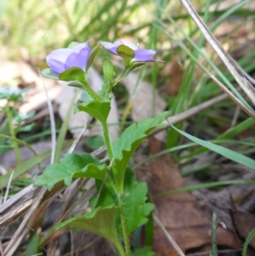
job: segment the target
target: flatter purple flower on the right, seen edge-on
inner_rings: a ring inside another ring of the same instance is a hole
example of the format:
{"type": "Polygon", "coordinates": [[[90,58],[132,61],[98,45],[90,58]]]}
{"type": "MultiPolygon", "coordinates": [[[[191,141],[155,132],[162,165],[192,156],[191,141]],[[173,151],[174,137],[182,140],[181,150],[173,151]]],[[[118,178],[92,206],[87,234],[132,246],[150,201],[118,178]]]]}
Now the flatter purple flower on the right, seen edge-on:
{"type": "Polygon", "coordinates": [[[128,48],[131,48],[134,52],[134,57],[132,61],[139,62],[148,62],[153,61],[152,57],[156,54],[155,50],[150,49],[139,49],[139,44],[134,43],[123,43],[122,41],[116,41],[115,43],[101,42],[101,44],[107,49],[111,54],[117,54],[117,48],[120,45],[126,45],[128,48]]]}

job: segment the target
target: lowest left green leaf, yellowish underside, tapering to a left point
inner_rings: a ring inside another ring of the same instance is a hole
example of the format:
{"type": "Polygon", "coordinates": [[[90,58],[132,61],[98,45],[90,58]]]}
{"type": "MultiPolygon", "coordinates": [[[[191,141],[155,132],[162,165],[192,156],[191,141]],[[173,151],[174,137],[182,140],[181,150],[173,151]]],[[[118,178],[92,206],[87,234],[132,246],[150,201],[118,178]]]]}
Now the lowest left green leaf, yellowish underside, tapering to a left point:
{"type": "Polygon", "coordinates": [[[109,208],[95,208],[90,213],[80,217],[71,218],[59,225],[55,229],[78,229],[88,230],[94,234],[105,237],[112,242],[116,248],[122,250],[122,244],[116,232],[116,216],[118,209],[115,206],[109,208]]]}

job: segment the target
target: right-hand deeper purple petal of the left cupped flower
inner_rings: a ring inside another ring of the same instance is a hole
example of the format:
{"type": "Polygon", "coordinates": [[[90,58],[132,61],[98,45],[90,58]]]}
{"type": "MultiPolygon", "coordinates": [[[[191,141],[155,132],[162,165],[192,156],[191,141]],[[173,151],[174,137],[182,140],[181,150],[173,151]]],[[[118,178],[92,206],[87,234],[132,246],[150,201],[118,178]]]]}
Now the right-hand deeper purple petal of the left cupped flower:
{"type": "MultiPolygon", "coordinates": [[[[88,63],[88,58],[90,56],[90,48],[84,47],[85,43],[81,43],[83,46],[80,52],[73,52],[69,55],[67,60],[65,60],[65,70],[71,67],[80,67],[82,70],[85,70],[88,63]]],[[[79,46],[79,45],[78,45],[79,46]]],[[[78,48],[78,46],[76,48],[78,48]]]]}

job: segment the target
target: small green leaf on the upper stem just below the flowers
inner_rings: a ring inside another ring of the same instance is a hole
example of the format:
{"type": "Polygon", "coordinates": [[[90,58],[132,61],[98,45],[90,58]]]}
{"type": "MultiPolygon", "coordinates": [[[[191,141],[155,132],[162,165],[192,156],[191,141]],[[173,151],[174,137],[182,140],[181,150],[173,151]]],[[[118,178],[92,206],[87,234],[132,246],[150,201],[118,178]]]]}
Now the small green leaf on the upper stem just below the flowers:
{"type": "Polygon", "coordinates": [[[94,100],[87,91],[82,93],[82,102],[77,105],[78,111],[87,112],[100,122],[105,123],[111,110],[111,100],[106,96],[102,100],[94,100]]]}

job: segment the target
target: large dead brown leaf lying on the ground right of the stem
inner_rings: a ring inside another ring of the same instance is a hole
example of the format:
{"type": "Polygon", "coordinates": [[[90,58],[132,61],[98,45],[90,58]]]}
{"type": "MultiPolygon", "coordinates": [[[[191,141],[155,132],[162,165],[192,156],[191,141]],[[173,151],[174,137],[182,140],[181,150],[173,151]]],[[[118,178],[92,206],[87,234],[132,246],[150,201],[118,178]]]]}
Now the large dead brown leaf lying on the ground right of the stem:
{"type": "MultiPolygon", "coordinates": [[[[163,149],[161,142],[150,138],[150,153],[155,154],[163,149]]],[[[184,181],[178,172],[178,167],[169,155],[159,156],[150,161],[150,179],[147,181],[151,196],[165,191],[171,191],[184,186],[184,181]]],[[[154,197],[156,213],[162,225],[173,236],[175,242],[183,251],[201,247],[211,242],[210,214],[202,212],[195,198],[188,192],[173,196],[154,197]]],[[[229,247],[236,246],[235,236],[229,231],[218,228],[218,243],[229,247]]],[[[177,256],[159,228],[155,229],[154,250],[157,255],[177,256]]]]}

